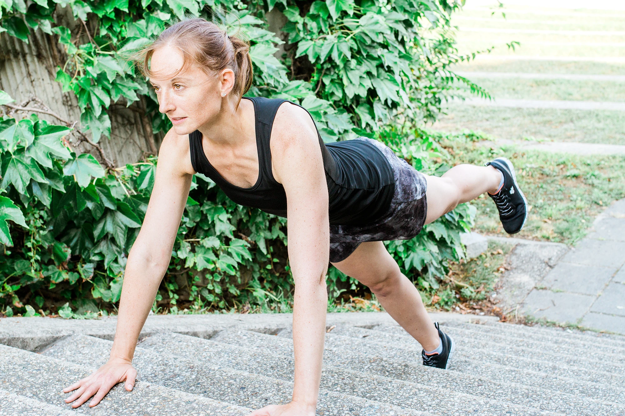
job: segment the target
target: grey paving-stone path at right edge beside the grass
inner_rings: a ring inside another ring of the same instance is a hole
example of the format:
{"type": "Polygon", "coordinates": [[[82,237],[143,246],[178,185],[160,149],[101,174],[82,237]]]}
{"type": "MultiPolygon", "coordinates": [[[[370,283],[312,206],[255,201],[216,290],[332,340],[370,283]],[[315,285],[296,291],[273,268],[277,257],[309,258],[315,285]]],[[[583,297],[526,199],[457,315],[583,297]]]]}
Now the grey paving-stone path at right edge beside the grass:
{"type": "Polygon", "coordinates": [[[522,312],[625,334],[625,199],[597,217],[587,237],[529,292],[522,312]]]}

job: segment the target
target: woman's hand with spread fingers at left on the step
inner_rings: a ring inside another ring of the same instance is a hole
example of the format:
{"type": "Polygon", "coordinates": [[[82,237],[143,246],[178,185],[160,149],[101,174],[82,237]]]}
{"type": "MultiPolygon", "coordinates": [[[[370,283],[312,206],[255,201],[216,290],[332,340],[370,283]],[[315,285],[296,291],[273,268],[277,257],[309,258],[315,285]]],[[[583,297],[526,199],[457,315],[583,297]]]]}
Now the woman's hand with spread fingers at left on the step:
{"type": "Polygon", "coordinates": [[[73,395],[65,399],[66,403],[71,403],[72,407],[80,407],[89,397],[95,394],[89,407],[94,407],[100,400],[111,390],[111,388],[119,382],[126,381],[126,390],[133,390],[134,380],[137,378],[137,370],[134,369],[131,361],[126,359],[109,359],[109,361],[100,367],[96,372],[85,377],[82,380],[63,389],[64,393],[78,389],[73,395]]]}

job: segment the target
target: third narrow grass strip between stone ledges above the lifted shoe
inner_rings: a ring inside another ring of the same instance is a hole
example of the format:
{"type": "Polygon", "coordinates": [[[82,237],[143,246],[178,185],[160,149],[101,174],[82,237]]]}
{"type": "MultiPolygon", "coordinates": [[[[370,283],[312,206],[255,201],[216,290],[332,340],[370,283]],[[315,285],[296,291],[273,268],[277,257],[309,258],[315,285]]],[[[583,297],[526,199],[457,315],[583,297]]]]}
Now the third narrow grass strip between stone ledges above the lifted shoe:
{"type": "Polygon", "coordinates": [[[625,64],[561,61],[476,61],[456,64],[452,71],[526,72],[531,74],[623,75],[625,64]]]}

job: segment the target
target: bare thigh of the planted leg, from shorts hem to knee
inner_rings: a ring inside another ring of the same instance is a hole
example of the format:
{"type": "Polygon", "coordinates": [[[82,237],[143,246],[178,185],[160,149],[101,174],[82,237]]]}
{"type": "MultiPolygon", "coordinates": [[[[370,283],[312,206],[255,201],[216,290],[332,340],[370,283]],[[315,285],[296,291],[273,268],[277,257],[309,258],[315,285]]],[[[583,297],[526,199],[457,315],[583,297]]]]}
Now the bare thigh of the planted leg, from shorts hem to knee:
{"type": "Polygon", "coordinates": [[[397,262],[381,241],[363,242],[347,259],[332,265],[369,287],[400,273],[397,262]]]}

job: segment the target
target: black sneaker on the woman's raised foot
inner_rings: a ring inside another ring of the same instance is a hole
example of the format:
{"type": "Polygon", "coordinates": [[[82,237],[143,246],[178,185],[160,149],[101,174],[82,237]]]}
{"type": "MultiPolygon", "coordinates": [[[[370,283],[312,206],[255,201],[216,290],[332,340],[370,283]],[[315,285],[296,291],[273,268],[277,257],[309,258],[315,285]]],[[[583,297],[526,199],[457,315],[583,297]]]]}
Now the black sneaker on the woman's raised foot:
{"type": "Polygon", "coordinates": [[[508,234],[521,231],[527,220],[527,199],[523,195],[519,184],[516,183],[516,174],[512,162],[505,157],[497,157],[486,166],[491,165],[504,176],[504,184],[494,195],[488,194],[495,201],[499,210],[499,220],[508,234]]]}

